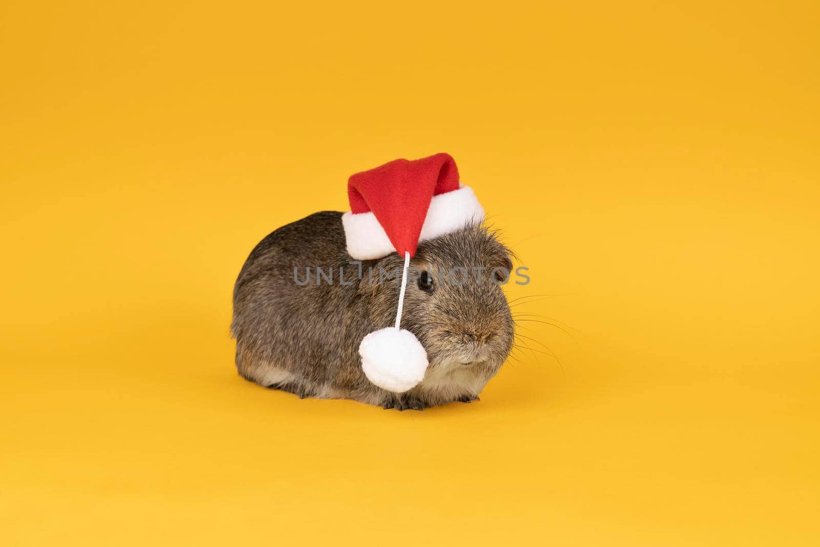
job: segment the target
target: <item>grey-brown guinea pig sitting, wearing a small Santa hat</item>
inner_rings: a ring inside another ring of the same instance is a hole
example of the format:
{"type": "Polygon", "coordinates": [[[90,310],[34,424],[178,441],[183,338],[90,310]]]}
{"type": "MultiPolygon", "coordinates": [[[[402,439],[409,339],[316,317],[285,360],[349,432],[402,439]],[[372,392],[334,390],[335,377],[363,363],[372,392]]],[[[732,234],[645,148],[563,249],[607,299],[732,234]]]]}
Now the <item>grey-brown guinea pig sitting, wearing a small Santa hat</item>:
{"type": "Polygon", "coordinates": [[[403,260],[391,253],[353,262],[341,218],[317,212],[282,226],[248,256],[231,323],[239,374],[302,398],[399,410],[478,399],[512,349],[514,324],[499,286],[512,270],[510,250],[479,223],[418,245],[401,326],[426,349],[429,366],[420,384],[397,394],[367,380],[358,348],[367,333],[393,324],[399,282],[381,280],[379,272],[400,271],[403,260]],[[330,282],[317,268],[332,272],[330,282]],[[495,281],[493,268],[503,269],[495,281]]]}

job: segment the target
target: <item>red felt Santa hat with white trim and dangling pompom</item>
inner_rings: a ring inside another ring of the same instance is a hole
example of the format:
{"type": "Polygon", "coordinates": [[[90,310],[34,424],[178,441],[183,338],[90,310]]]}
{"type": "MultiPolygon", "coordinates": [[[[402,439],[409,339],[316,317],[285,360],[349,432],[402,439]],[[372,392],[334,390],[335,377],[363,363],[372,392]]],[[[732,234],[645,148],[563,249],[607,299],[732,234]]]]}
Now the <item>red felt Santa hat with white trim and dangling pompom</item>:
{"type": "Polygon", "coordinates": [[[399,253],[404,267],[395,326],[364,337],[362,370],[385,390],[403,393],[424,379],[427,353],[416,336],[399,328],[410,258],[420,241],[484,220],[472,189],[458,180],[456,162],[439,153],[420,160],[394,160],[348,180],[350,212],[342,215],[348,253],[356,260],[399,253]]]}

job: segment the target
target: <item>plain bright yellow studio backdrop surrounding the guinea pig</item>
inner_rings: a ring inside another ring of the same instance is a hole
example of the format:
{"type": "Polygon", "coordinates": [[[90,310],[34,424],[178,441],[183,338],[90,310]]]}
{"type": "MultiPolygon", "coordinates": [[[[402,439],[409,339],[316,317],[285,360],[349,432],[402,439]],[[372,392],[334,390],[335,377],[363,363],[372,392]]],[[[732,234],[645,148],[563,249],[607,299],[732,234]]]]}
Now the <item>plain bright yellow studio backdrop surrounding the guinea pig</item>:
{"type": "Polygon", "coordinates": [[[0,544],[818,545],[818,16],[5,0],[0,544]],[[424,413],[241,380],[253,245],[440,151],[561,328],[424,413]]]}

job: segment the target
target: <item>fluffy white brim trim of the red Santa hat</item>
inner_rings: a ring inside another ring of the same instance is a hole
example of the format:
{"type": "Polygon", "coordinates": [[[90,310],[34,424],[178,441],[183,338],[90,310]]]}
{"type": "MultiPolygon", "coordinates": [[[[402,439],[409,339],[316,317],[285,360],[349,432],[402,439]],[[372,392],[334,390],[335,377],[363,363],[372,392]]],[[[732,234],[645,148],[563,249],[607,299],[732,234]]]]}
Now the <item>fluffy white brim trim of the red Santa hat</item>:
{"type": "MultiPolygon", "coordinates": [[[[418,240],[449,234],[472,221],[484,221],[484,209],[469,186],[433,196],[418,240]]],[[[342,226],[348,254],[356,260],[374,260],[396,251],[372,212],[346,212],[342,226]]]]}

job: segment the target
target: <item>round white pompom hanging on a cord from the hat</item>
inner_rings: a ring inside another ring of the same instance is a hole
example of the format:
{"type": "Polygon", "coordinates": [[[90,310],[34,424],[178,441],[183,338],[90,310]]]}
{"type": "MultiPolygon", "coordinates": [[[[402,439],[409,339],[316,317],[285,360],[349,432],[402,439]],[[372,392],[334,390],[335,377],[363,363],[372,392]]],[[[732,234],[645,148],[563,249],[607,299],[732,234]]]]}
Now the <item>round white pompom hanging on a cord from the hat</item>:
{"type": "Polygon", "coordinates": [[[362,370],[383,390],[403,393],[424,379],[427,352],[409,330],[389,326],[365,336],[359,344],[362,370]]]}

